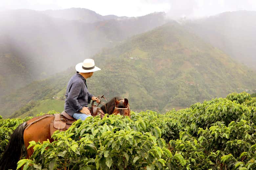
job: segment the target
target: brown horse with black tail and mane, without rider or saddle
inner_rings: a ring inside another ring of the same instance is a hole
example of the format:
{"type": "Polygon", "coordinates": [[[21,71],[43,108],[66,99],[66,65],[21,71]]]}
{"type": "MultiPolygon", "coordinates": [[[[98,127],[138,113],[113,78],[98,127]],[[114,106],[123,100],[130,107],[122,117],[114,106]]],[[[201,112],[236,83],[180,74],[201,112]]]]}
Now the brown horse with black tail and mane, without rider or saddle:
{"type": "MultiPolygon", "coordinates": [[[[104,114],[114,114],[130,116],[130,107],[127,99],[119,97],[113,98],[108,103],[100,107],[104,114]]],[[[103,115],[104,115],[103,114],[103,115]]],[[[22,123],[13,131],[9,143],[0,161],[0,170],[16,169],[17,162],[21,157],[22,147],[28,148],[30,141],[43,142],[49,139],[53,142],[50,135],[50,124],[53,123],[53,115],[43,115],[34,117],[22,123]]],[[[33,149],[27,149],[27,159],[33,154],[33,149]]]]}

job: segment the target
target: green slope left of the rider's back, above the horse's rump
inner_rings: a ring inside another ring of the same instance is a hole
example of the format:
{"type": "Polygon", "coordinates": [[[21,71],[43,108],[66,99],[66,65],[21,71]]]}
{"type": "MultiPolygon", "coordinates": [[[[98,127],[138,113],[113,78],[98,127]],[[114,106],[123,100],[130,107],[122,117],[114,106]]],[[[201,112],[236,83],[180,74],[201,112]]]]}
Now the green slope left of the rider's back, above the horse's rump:
{"type": "MultiPolygon", "coordinates": [[[[61,74],[56,74],[51,78],[34,81],[31,84],[22,87],[18,90],[14,90],[10,95],[3,96],[0,98],[0,115],[2,116],[14,116],[22,115],[34,107],[41,105],[40,102],[43,102],[46,99],[50,101],[53,100],[53,97],[56,97],[56,94],[60,92],[63,88],[65,88],[70,76],[72,76],[71,70],[67,70],[62,72],[61,74]],[[41,101],[42,100],[42,101],[41,101]]],[[[55,98],[54,100],[63,100],[62,98],[55,98]]],[[[59,102],[55,102],[59,103],[59,102]]],[[[62,106],[56,106],[55,108],[64,107],[64,101],[62,106]]],[[[53,110],[49,109],[48,105],[44,105],[43,110],[33,109],[38,111],[37,113],[33,113],[35,116],[36,114],[40,113],[44,110],[53,110]]],[[[58,109],[56,109],[58,111],[58,109]]],[[[28,114],[30,115],[30,114],[28,114]]]]}

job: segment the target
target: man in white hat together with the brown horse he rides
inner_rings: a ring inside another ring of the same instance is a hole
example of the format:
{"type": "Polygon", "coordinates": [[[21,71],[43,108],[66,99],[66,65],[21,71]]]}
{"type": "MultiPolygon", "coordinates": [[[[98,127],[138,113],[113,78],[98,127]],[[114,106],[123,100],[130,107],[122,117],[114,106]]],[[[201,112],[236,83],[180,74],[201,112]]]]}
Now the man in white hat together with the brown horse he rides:
{"type": "MultiPolygon", "coordinates": [[[[64,112],[55,115],[42,115],[34,117],[15,129],[11,135],[8,145],[3,153],[2,160],[0,160],[0,170],[16,169],[17,162],[21,158],[22,147],[28,148],[30,141],[43,142],[49,140],[53,142],[52,133],[56,130],[66,130],[75,119],[85,120],[86,117],[91,116],[88,109],[90,100],[100,103],[100,100],[88,92],[86,79],[92,77],[94,71],[100,70],[95,66],[93,59],[85,59],[83,63],[75,66],[77,73],[73,75],[68,83],[64,112]],[[64,116],[64,117],[60,117],[64,116]],[[70,117],[70,118],[69,118],[70,117]],[[55,127],[56,125],[56,127],[55,127]]],[[[103,96],[102,96],[103,97],[103,96]]],[[[92,107],[92,110],[94,107],[92,107]]],[[[99,110],[99,115],[102,118],[105,114],[122,115],[131,117],[128,99],[115,97],[109,102],[103,104],[99,110]]],[[[96,116],[98,112],[92,112],[96,116]]],[[[27,159],[29,159],[34,150],[33,147],[27,149],[27,159]]]]}

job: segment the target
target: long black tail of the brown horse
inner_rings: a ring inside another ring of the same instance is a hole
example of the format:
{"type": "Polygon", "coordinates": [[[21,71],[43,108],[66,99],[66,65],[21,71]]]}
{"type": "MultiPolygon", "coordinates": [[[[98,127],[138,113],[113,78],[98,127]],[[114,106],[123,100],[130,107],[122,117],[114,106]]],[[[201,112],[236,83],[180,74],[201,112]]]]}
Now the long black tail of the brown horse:
{"type": "Polygon", "coordinates": [[[22,147],[24,145],[23,132],[26,122],[20,124],[15,131],[13,131],[7,147],[5,148],[2,160],[0,160],[0,170],[17,168],[17,162],[20,159],[22,147]]]}

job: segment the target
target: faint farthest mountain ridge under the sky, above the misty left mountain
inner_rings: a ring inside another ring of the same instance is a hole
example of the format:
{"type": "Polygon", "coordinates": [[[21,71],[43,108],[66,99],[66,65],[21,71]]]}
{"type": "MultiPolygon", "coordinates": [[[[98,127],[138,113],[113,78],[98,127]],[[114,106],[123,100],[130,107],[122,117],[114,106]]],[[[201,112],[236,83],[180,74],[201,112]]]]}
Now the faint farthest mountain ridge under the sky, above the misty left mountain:
{"type": "Polygon", "coordinates": [[[90,9],[85,9],[85,8],[45,10],[41,12],[50,17],[61,18],[65,20],[77,20],[84,23],[95,23],[99,21],[114,20],[114,19],[129,19],[129,17],[118,17],[116,15],[102,16],[100,14],[97,14],[95,11],[92,11],[90,9]]]}

